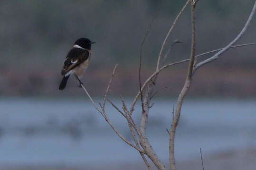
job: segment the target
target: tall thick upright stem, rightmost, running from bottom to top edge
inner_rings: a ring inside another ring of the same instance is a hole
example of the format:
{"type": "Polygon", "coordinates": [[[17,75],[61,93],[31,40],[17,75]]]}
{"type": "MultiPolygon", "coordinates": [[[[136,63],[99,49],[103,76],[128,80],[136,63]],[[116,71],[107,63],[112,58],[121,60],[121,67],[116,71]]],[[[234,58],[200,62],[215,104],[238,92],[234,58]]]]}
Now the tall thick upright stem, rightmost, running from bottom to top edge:
{"type": "Polygon", "coordinates": [[[191,0],[191,32],[192,33],[191,33],[190,63],[189,63],[186,81],[178,97],[176,109],[174,112],[174,118],[171,122],[171,131],[170,131],[170,138],[169,138],[169,161],[170,161],[171,170],[175,170],[175,157],[174,157],[175,131],[180,120],[180,111],[181,111],[183,99],[190,89],[190,85],[192,81],[192,72],[193,72],[194,61],[195,61],[195,51],[196,51],[195,50],[195,47],[196,47],[195,8],[196,8],[196,5],[195,3],[193,3],[193,0],[191,0]]]}

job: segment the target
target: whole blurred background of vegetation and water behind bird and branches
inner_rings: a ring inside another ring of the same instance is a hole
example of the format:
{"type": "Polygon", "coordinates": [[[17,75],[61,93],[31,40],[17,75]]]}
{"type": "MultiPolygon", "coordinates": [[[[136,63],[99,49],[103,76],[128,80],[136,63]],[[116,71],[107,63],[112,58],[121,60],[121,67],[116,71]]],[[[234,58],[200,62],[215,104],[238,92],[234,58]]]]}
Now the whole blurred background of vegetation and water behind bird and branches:
{"type": "MultiPolygon", "coordinates": [[[[97,42],[83,82],[101,101],[116,63],[111,90],[129,103],[138,91],[140,44],[142,80],[155,69],[161,43],[185,0],[0,0],[0,170],[142,169],[139,154],[124,144],[95,112],[72,77],[58,90],[67,52],[80,37],[97,42]]],[[[197,8],[197,54],[222,48],[242,29],[254,0],[201,0],[197,8]]],[[[256,42],[256,16],[237,44],[256,42]]],[[[186,8],[167,46],[168,62],[190,55],[190,9],[186,8]]],[[[167,48],[166,48],[167,49],[167,48]]],[[[256,46],[231,49],[194,77],[176,138],[177,166],[253,170],[256,167],[256,46]],[[241,166],[241,167],[240,167],[241,166]]],[[[207,56],[202,57],[202,59],[207,56]]],[[[187,63],[163,71],[148,134],[168,161],[171,108],[186,76],[187,63]]],[[[109,117],[131,140],[124,120],[109,117]]],[[[140,107],[134,118],[139,120],[140,107]]]]}

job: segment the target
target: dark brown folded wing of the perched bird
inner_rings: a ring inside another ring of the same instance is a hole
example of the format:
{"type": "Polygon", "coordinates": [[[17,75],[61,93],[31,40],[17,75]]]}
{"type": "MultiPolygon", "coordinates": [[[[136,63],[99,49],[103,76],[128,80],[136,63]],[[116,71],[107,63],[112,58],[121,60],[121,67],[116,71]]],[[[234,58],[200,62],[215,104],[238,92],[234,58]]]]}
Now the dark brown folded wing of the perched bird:
{"type": "Polygon", "coordinates": [[[73,48],[66,56],[61,75],[66,75],[70,70],[79,66],[82,62],[89,58],[90,52],[85,49],[73,48]]]}

